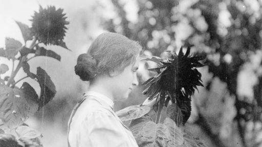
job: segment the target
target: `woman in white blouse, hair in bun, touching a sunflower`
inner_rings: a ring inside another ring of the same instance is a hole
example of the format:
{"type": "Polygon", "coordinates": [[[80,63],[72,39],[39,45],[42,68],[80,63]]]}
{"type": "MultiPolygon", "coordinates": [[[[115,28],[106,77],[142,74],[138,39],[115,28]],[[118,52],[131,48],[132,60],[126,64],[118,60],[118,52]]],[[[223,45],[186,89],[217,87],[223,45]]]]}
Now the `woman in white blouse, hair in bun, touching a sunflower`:
{"type": "MultiPolygon", "coordinates": [[[[138,85],[136,72],[141,52],[136,41],[116,33],[103,33],[87,54],[79,55],[76,75],[90,81],[90,86],[71,114],[69,146],[138,146],[113,106],[115,101],[126,100],[138,85]]],[[[155,102],[144,104],[152,107],[155,102]]]]}

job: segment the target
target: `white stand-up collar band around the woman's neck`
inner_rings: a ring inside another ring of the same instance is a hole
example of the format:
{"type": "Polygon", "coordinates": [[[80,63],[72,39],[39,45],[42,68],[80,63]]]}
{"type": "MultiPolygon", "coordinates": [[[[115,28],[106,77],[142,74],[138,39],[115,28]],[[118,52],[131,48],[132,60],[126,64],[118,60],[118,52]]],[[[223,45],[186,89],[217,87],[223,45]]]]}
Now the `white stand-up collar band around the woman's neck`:
{"type": "Polygon", "coordinates": [[[104,94],[101,94],[99,92],[96,92],[96,91],[85,91],[83,95],[84,96],[94,96],[96,100],[106,103],[112,109],[114,107],[114,102],[109,97],[107,97],[104,94]]]}

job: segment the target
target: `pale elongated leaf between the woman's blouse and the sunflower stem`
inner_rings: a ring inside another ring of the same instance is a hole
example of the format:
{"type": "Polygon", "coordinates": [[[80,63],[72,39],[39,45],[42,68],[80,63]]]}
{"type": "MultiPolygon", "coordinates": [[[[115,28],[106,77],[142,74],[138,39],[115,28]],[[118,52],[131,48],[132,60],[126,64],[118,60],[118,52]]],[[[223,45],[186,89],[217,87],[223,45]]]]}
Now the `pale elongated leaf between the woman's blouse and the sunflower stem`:
{"type": "Polygon", "coordinates": [[[150,107],[145,106],[145,105],[137,105],[137,106],[129,106],[126,107],[122,110],[117,111],[117,116],[122,120],[122,121],[128,121],[132,119],[137,119],[145,114],[147,114],[150,111],[150,107]]]}

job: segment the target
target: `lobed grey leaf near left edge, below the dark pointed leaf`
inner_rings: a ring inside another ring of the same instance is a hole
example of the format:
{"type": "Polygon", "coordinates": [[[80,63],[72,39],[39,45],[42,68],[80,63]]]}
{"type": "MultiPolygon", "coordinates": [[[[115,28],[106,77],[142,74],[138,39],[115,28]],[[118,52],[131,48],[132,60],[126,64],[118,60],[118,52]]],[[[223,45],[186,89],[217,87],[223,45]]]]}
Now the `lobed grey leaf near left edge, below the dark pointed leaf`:
{"type": "Polygon", "coordinates": [[[6,57],[8,60],[13,59],[15,60],[15,55],[18,53],[19,48],[22,46],[22,43],[13,39],[13,38],[6,38],[6,57]]]}

